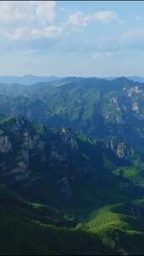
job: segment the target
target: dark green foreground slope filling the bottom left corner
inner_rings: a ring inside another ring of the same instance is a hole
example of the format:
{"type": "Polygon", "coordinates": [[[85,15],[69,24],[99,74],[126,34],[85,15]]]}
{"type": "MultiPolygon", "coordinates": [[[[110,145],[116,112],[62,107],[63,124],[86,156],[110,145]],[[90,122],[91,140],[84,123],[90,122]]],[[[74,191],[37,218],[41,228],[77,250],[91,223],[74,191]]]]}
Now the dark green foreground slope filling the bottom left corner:
{"type": "Polygon", "coordinates": [[[112,251],[99,237],[48,205],[20,199],[0,185],[0,255],[99,255],[112,251]],[[83,243],[83,247],[82,247],[83,243]]]}

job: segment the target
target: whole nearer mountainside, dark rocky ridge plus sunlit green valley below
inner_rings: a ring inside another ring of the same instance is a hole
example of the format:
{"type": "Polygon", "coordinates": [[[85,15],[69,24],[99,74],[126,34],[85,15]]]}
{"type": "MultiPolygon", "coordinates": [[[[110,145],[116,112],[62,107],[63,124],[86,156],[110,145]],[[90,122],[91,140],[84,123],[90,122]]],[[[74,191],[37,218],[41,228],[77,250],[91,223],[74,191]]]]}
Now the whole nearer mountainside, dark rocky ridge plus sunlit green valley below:
{"type": "Polygon", "coordinates": [[[2,116],[0,254],[142,255],[143,184],[124,175],[136,163],[115,138],[2,116]]]}

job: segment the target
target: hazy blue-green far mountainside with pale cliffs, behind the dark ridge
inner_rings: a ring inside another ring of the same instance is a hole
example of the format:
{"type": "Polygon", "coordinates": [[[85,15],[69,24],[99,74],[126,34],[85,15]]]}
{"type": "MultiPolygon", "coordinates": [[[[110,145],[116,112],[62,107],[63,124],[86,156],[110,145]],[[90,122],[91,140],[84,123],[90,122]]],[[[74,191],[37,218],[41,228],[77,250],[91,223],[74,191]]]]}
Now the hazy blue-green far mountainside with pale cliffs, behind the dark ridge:
{"type": "Polygon", "coordinates": [[[0,94],[7,95],[0,100],[5,115],[24,115],[48,127],[69,127],[96,138],[115,135],[144,152],[142,83],[125,77],[67,77],[31,86],[1,85],[0,94]]]}

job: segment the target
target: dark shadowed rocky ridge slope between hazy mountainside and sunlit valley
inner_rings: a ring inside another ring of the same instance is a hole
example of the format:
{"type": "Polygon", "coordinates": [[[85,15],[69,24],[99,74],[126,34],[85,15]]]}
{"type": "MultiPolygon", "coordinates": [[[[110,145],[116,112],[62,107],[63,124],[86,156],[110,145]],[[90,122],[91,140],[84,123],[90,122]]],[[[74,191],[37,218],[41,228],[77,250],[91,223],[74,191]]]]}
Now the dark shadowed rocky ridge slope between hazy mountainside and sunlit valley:
{"type": "Polygon", "coordinates": [[[143,195],[115,173],[125,165],[133,166],[131,157],[69,129],[46,129],[20,116],[0,121],[1,181],[29,200],[86,215],[108,201],[143,195]]]}

